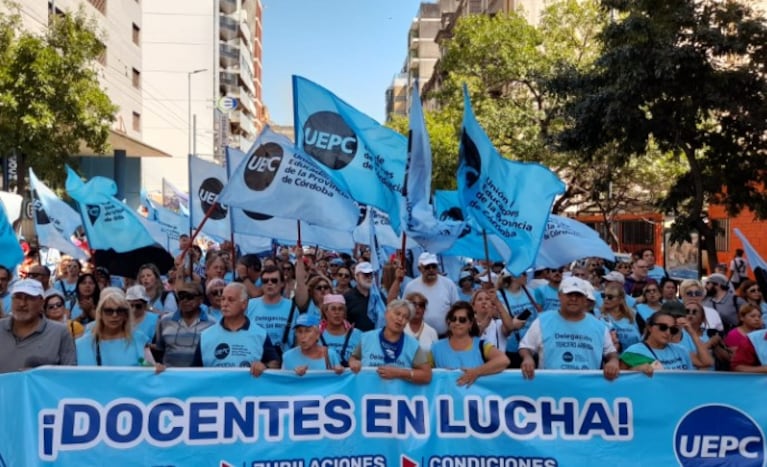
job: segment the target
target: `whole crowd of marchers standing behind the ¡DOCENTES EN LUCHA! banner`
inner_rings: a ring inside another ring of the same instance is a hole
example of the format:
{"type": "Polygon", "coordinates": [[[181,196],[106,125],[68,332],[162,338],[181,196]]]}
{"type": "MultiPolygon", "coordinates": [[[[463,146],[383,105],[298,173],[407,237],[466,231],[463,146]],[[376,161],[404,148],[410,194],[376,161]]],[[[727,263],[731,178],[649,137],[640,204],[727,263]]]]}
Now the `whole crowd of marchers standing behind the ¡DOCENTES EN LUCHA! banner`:
{"type": "Polygon", "coordinates": [[[651,249],[522,275],[469,261],[454,282],[428,252],[412,264],[392,255],[377,272],[362,246],[233,250],[203,254],[183,236],[175,268],[145,264],[136,277],[68,257],[55,271],[0,267],[0,373],[374,367],[427,384],[444,368],[468,386],[507,369],[528,379],[537,369],[602,370],[608,380],[626,370],[767,372],[767,303],[737,261],[705,282],[669,278],[651,249]]]}

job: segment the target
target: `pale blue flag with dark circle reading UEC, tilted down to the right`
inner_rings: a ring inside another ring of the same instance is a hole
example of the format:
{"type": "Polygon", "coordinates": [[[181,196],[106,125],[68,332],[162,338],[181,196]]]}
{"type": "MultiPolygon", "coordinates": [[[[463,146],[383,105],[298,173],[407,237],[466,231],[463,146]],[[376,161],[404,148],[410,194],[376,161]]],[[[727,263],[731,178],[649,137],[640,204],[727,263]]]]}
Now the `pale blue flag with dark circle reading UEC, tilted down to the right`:
{"type": "Polygon", "coordinates": [[[360,221],[357,203],[313,158],[268,126],[235,166],[218,201],[229,207],[349,232],[360,221]]]}

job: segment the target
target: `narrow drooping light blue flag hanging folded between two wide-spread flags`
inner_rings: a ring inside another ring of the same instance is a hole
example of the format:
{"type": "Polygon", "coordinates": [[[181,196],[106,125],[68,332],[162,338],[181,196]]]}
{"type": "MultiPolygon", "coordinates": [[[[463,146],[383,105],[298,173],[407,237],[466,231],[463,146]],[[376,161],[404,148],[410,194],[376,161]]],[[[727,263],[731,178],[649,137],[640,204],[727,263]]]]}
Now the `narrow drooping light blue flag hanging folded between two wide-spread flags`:
{"type": "Polygon", "coordinates": [[[448,250],[463,230],[463,222],[438,219],[431,203],[431,145],[421,108],[418,82],[413,86],[405,188],[402,193],[402,225],[410,238],[425,250],[448,250]]]}

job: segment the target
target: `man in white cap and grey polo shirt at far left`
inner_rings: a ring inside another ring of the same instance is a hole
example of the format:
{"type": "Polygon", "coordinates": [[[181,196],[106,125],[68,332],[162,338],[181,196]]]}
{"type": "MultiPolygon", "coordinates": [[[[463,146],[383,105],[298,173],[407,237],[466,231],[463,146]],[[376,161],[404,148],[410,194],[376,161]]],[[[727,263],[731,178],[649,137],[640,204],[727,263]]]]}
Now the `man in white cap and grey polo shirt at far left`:
{"type": "Polygon", "coordinates": [[[43,287],[38,281],[17,281],[11,300],[10,316],[0,319],[0,373],[77,364],[67,327],[43,316],[43,287]]]}

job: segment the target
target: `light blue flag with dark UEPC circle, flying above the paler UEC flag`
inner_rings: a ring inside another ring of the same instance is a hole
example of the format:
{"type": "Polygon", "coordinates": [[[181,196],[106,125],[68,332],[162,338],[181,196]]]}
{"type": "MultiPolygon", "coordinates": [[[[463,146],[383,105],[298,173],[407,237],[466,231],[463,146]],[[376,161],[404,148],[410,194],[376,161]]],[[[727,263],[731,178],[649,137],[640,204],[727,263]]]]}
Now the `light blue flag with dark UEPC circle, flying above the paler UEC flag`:
{"type": "Polygon", "coordinates": [[[295,75],[293,107],[296,146],[353,199],[389,213],[399,233],[407,139],[295,75]]]}

